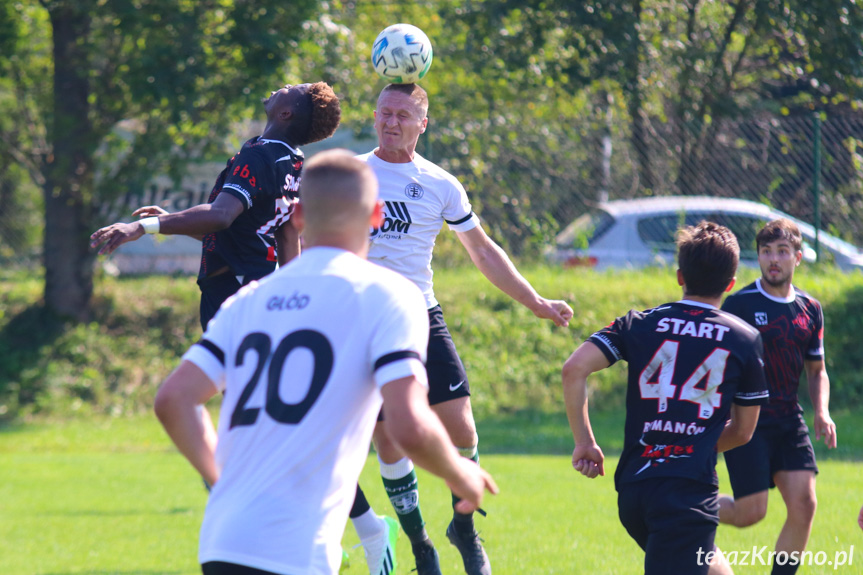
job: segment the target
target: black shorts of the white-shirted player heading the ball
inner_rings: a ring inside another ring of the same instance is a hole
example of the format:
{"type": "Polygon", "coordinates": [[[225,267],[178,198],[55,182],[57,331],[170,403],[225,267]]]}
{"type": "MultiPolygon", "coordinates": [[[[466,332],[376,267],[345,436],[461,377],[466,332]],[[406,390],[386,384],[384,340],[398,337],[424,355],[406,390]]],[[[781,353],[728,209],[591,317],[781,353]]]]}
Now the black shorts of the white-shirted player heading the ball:
{"type": "MultiPolygon", "coordinates": [[[[429,344],[426,356],[429,405],[470,395],[467,372],[455,350],[439,305],[429,309],[429,344]]],[[[383,420],[384,415],[381,412],[378,414],[378,421],[383,420]]]]}

